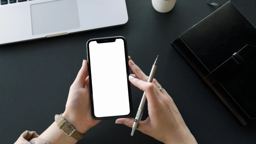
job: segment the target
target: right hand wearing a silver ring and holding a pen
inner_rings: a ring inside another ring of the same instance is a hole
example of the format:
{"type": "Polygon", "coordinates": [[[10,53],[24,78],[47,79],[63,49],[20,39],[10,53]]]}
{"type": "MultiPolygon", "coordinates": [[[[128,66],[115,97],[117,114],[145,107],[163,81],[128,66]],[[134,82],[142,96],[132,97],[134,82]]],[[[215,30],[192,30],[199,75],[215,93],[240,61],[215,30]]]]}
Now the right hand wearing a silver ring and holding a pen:
{"type": "MultiPolygon", "coordinates": [[[[130,82],[145,91],[148,100],[149,117],[140,122],[137,130],[163,143],[197,143],[170,95],[164,89],[158,90],[161,85],[155,79],[147,82],[148,76],[132,60],[129,67],[135,74],[129,76],[130,82]]],[[[117,124],[128,127],[132,127],[133,122],[131,117],[116,119],[117,124]]]]}

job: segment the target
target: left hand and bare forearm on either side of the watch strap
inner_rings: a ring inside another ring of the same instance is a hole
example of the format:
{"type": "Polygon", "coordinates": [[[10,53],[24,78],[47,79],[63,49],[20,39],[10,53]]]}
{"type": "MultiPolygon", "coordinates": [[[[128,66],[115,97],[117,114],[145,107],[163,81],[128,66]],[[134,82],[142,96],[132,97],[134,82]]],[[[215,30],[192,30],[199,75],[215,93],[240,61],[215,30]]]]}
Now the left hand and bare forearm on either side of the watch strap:
{"type": "MultiPolygon", "coordinates": [[[[83,60],[82,67],[77,74],[77,78],[71,85],[66,104],[65,112],[62,117],[81,134],[86,133],[90,128],[97,125],[100,121],[92,118],[88,64],[83,60]]],[[[57,127],[56,122],[47,128],[39,138],[51,144],[77,143],[73,137],[67,136],[57,127]]]]}

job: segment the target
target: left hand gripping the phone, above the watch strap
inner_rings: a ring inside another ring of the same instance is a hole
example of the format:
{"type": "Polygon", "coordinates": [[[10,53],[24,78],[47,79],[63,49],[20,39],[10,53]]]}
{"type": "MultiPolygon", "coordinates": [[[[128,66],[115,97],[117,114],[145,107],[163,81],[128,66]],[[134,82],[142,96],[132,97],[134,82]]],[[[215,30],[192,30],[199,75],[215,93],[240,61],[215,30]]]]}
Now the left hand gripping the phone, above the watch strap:
{"type": "MultiPolygon", "coordinates": [[[[130,59],[131,57],[128,56],[128,60],[130,59]]],[[[89,76],[87,75],[88,62],[83,60],[77,78],[70,87],[66,109],[62,114],[62,117],[81,134],[100,122],[92,117],[89,76]]]]}

